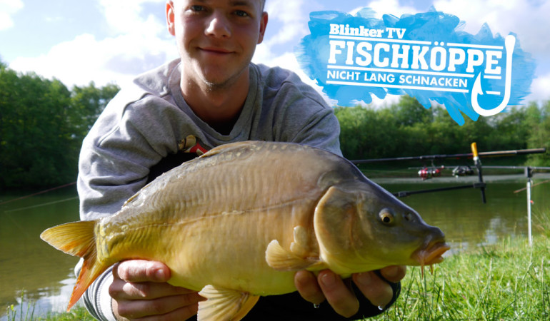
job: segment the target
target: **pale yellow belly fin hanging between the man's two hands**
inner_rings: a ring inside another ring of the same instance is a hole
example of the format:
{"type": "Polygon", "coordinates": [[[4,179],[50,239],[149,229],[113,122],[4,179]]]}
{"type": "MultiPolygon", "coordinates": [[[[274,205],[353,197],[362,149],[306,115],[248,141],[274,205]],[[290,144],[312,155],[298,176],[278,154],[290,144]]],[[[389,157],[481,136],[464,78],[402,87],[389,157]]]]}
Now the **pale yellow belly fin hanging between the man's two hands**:
{"type": "Polygon", "coordinates": [[[238,321],[246,313],[252,310],[252,307],[260,298],[258,295],[251,295],[247,292],[224,289],[206,285],[201,292],[201,297],[206,297],[206,301],[199,302],[199,312],[197,321],[238,321]]]}

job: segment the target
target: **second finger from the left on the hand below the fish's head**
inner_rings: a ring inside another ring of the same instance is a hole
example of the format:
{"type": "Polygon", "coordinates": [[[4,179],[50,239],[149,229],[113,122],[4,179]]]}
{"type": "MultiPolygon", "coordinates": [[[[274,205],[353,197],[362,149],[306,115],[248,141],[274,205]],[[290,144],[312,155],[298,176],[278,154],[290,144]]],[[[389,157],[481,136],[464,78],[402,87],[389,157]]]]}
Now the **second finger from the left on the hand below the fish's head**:
{"type": "Polygon", "coordinates": [[[351,317],[359,311],[359,300],[339,275],[330,270],[323,270],[319,272],[317,280],[326,300],[336,313],[351,317]]]}

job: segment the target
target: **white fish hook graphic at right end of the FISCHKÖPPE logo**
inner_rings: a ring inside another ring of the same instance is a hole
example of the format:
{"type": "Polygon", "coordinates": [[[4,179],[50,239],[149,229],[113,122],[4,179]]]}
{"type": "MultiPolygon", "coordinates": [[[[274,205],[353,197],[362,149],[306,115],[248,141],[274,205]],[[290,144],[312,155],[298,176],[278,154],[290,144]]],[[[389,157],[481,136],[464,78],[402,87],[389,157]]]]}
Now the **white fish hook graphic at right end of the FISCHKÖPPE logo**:
{"type": "Polygon", "coordinates": [[[478,73],[474,87],[471,90],[471,106],[474,107],[474,111],[481,116],[493,116],[506,108],[510,101],[510,88],[511,88],[511,76],[512,76],[512,54],[514,53],[514,46],[516,45],[516,37],[509,34],[504,39],[504,47],[506,48],[506,88],[504,89],[504,99],[499,106],[493,109],[485,109],[479,106],[477,102],[477,96],[483,95],[483,89],[481,88],[481,73],[478,73]]]}

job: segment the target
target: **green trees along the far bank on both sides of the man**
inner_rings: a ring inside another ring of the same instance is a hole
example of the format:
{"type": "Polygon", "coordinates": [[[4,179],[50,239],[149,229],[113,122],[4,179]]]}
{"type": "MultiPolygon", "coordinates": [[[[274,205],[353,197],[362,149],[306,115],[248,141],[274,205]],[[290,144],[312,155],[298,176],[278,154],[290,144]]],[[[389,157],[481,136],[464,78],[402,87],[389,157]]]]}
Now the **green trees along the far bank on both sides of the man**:
{"type": "MultiPolygon", "coordinates": [[[[47,188],[76,180],[81,142],[106,104],[114,84],[73,86],[36,73],[18,73],[0,61],[0,190],[47,188]]],[[[349,159],[550,148],[550,101],[511,108],[459,126],[442,107],[426,109],[403,96],[386,107],[335,107],[341,149],[349,159]]],[[[550,165],[546,156],[529,165],[550,165]]]]}

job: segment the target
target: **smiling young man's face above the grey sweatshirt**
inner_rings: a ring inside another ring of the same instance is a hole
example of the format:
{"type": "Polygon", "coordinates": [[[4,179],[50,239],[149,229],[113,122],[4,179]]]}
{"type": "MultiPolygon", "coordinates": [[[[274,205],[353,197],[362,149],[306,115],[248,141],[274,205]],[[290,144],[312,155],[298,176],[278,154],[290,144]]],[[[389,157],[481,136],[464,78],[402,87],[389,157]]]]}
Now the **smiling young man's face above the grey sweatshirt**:
{"type": "Polygon", "coordinates": [[[261,0],[166,1],[184,81],[224,87],[248,71],[267,24],[261,5],[261,0]]]}

